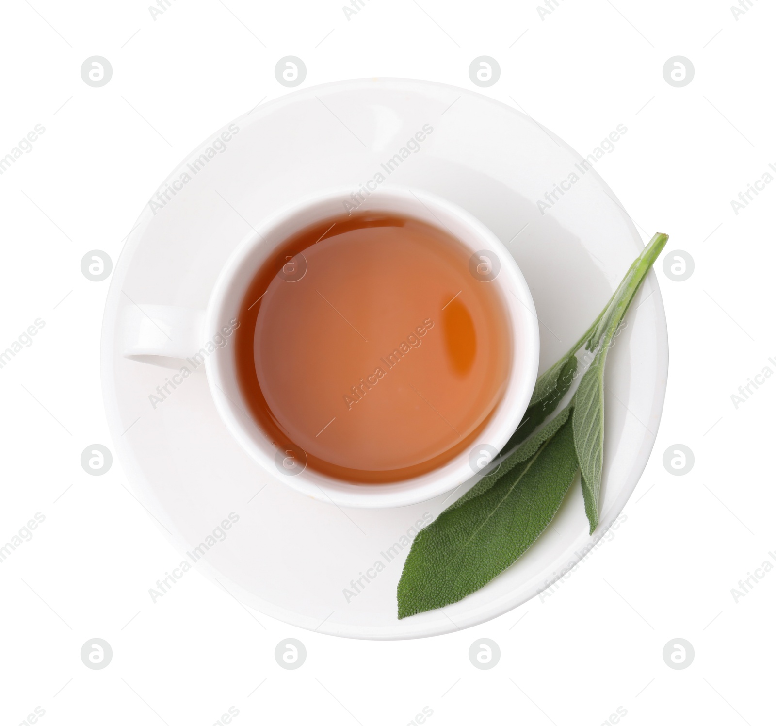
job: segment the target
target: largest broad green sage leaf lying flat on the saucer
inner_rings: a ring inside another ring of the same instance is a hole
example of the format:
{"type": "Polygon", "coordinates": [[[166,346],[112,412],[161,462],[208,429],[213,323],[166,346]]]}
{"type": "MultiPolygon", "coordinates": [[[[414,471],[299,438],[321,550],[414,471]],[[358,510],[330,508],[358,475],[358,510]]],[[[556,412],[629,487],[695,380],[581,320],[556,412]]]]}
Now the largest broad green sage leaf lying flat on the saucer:
{"type": "Polygon", "coordinates": [[[549,525],[577,467],[566,420],[487,492],[442,512],[417,534],[404,563],[399,617],[456,603],[508,568],[549,525]]]}

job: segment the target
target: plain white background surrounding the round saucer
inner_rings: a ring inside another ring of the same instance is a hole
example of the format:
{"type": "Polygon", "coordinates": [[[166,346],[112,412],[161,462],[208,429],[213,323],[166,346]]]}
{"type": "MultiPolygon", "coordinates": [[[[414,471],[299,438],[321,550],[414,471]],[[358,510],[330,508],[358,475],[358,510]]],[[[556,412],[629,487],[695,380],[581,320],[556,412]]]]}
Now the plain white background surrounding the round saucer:
{"type": "Polygon", "coordinates": [[[542,19],[531,2],[364,0],[348,20],[330,0],[170,2],[155,20],[146,2],[0,9],[0,156],[46,129],[0,176],[0,349],[46,324],[0,370],[0,543],[46,517],[0,564],[2,723],[35,707],[52,726],[207,726],[229,707],[236,724],[408,724],[423,707],[432,726],[604,724],[618,707],[633,726],[773,723],[776,574],[737,602],[731,589],[776,552],[776,380],[737,409],[730,398],[776,370],[776,185],[738,215],[730,204],[776,163],[772,5],[752,0],[736,19],[722,0],[549,0],[542,19]],[[101,89],[81,80],[92,55],[113,64],[101,89]],[[289,92],[274,75],[286,55],[307,64],[302,87],[393,76],[468,89],[473,58],[495,57],[501,78],[481,92],[518,102],[583,155],[628,127],[596,171],[640,228],[695,259],[681,283],[656,265],[670,378],[627,521],[552,596],[480,627],[338,639],[253,618],[197,573],[154,605],[148,589],[178,553],[120,462],[102,477],[81,468],[85,446],[111,446],[99,385],[109,280],[86,280],[81,257],[118,259],[181,158],[289,92]],[[674,55],[695,64],[681,89],[663,79],[674,55]],[[663,467],[674,443],[695,453],[685,476],[663,467]],[[113,647],[104,670],[81,663],[92,637],[113,647]],[[275,663],[285,637],[307,647],[298,670],[275,663]],[[478,637],[500,645],[494,669],[469,663],[478,637]],[[688,669],[663,662],[676,637],[695,648],[688,669]]]}

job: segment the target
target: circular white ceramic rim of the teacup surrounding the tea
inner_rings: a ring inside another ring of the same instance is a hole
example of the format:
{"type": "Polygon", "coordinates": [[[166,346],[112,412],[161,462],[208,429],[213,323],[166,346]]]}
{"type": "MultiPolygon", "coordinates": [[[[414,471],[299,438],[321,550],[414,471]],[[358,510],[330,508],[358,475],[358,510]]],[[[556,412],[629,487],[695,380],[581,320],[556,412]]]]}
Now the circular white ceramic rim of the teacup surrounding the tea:
{"type": "MultiPolygon", "coordinates": [[[[206,335],[209,332],[217,331],[228,317],[228,313],[225,311],[226,307],[229,307],[230,304],[234,305],[235,300],[242,300],[244,290],[235,290],[233,283],[238,273],[248,267],[244,263],[248,262],[251,255],[255,255],[260,245],[268,245],[265,249],[266,259],[279,244],[279,241],[275,243],[268,242],[268,238],[272,237],[273,231],[282,228],[284,224],[293,224],[300,219],[303,221],[296,225],[297,228],[306,227],[315,218],[320,219],[322,216],[317,214],[317,217],[308,218],[305,217],[306,214],[310,215],[311,212],[327,203],[341,202],[348,198],[352,191],[351,188],[338,187],[303,196],[275,210],[274,213],[265,217],[250,233],[246,234],[229,259],[227,259],[210,294],[205,316],[206,335]]],[[[512,356],[512,368],[508,377],[507,390],[501,396],[501,401],[494,409],[494,414],[491,415],[490,421],[487,422],[480,432],[480,436],[477,437],[478,440],[482,439],[483,442],[487,440],[490,446],[494,446],[496,450],[500,451],[518,427],[526,408],[528,408],[528,401],[530,401],[532,396],[536,373],[539,369],[539,323],[536,318],[531,291],[517,262],[508,252],[508,249],[504,247],[501,240],[476,217],[455,203],[428,193],[423,189],[391,185],[379,187],[372,191],[371,195],[365,200],[368,202],[365,208],[369,209],[374,203],[379,203],[380,201],[383,203],[397,203],[399,200],[406,202],[407,195],[409,194],[413,195],[434,217],[436,217],[436,214],[434,214],[436,211],[459,221],[470,235],[467,239],[459,239],[466,248],[473,251],[478,249],[490,250],[495,252],[501,262],[501,269],[495,280],[499,281],[498,284],[501,288],[504,304],[509,308],[510,328],[515,336],[513,338],[513,350],[519,350],[519,356],[512,356]],[[429,209],[429,207],[431,208],[429,209]],[[475,240],[476,245],[473,244],[475,240]],[[519,304],[511,304],[510,306],[512,300],[508,295],[509,292],[514,295],[519,304]],[[519,321],[514,319],[515,314],[519,321]],[[518,363],[519,371],[517,370],[518,363]]],[[[438,217],[436,218],[438,220],[438,217]]],[[[431,222],[431,224],[435,223],[431,222]]],[[[439,225],[437,224],[436,226],[439,225]]],[[[293,234],[293,232],[290,234],[293,234]]],[[[288,236],[289,233],[286,232],[281,239],[285,240],[288,236]]],[[[253,269],[255,271],[255,264],[253,269]]],[[[289,485],[289,487],[296,489],[296,491],[314,499],[335,505],[356,508],[384,508],[425,502],[435,496],[451,491],[453,488],[466,483],[466,481],[478,478],[473,469],[469,467],[469,450],[459,453],[446,464],[426,474],[403,481],[383,484],[361,484],[343,481],[307,468],[295,476],[281,476],[279,470],[275,468],[274,456],[269,455],[268,449],[272,448],[272,445],[268,442],[265,432],[244,411],[241,405],[224,391],[225,388],[233,388],[234,393],[239,395],[236,385],[232,385],[234,376],[230,376],[230,370],[226,370],[227,356],[223,354],[223,349],[217,349],[217,352],[209,356],[205,363],[208,384],[217,412],[232,436],[237,439],[237,443],[268,474],[271,474],[275,481],[289,485]],[[256,436],[255,429],[261,432],[261,437],[256,436]],[[265,446],[259,446],[257,439],[262,440],[265,446]]],[[[474,444],[473,446],[480,445],[474,444]]]]}

